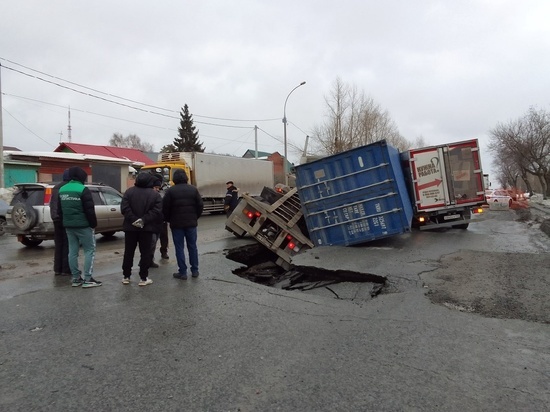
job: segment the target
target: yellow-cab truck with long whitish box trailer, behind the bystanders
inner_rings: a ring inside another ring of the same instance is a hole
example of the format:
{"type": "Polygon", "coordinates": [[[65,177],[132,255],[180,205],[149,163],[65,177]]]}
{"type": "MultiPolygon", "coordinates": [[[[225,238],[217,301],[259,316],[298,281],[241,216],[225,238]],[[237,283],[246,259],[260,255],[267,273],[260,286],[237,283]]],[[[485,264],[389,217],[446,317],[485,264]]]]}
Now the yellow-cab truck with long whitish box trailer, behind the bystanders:
{"type": "Polygon", "coordinates": [[[160,153],[158,162],[141,170],[160,173],[166,184],[173,184],[173,172],[185,170],[204,202],[204,212],[224,213],[226,182],[239,188],[239,196],[259,196],[264,186],[273,187],[273,162],[201,152],[160,153]]]}

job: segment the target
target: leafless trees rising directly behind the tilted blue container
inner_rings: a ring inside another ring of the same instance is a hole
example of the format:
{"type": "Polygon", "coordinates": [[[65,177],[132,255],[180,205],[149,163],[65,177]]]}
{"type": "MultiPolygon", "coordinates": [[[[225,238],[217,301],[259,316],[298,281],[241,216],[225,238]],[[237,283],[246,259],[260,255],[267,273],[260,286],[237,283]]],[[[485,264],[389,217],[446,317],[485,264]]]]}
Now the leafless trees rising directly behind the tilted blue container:
{"type": "Polygon", "coordinates": [[[357,87],[337,78],[325,96],[326,120],[314,128],[312,145],[316,154],[331,155],[385,139],[399,150],[410,147],[399,134],[386,110],[357,87]]]}

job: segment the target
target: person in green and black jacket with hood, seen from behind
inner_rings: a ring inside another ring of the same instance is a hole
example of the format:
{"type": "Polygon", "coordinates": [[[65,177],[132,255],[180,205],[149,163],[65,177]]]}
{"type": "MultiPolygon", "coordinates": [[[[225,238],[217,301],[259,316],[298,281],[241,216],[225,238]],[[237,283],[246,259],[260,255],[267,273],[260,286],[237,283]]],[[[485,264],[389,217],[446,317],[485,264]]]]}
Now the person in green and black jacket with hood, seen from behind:
{"type": "Polygon", "coordinates": [[[59,189],[59,212],[69,241],[69,267],[73,277],[72,286],[92,288],[101,282],[92,277],[95,258],[95,215],[92,192],[84,183],[88,179],[86,171],[78,166],[69,169],[69,182],[59,189]],[[78,268],[80,246],[84,251],[84,279],[78,268]]]}

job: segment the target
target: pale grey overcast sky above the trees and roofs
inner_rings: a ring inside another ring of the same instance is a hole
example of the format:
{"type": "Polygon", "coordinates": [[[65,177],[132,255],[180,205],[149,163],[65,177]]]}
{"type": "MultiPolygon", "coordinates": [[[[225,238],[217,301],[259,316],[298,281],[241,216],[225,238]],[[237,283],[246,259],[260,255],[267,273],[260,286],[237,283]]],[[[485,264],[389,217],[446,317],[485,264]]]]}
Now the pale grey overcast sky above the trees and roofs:
{"type": "Polygon", "coordinates": [[[297,162],[336,78],[408,140],[479,138],[549,110],[550,2],[18,0],[0,6],[3,141],[22,150],[172,143],[189,105],[207,152],[297,162]],[[63,86],[63,87],[61,87],[63,86]],[[115,103],[116,102],[116,103],[115,103]],[[118,103],[118,104],[117,104],[118,103]]]}

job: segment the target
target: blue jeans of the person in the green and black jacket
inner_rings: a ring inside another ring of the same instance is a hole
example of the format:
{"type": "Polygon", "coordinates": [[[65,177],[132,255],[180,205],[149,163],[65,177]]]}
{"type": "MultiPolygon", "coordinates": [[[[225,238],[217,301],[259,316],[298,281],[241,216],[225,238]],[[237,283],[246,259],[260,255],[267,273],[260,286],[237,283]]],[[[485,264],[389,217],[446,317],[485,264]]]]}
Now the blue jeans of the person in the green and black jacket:
{"type": "Polygon", "coordinates": [[[90,280],[94,271],[95,259],[95,232],[91,227],[67,227],[67,239],[69,241],[69,267],[73,280],[80,278],[82,271],[78,269],[78,252],[80,245],[84,251],[84,280],[90,280]]]}

